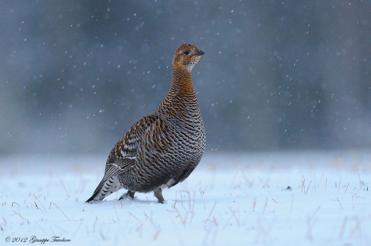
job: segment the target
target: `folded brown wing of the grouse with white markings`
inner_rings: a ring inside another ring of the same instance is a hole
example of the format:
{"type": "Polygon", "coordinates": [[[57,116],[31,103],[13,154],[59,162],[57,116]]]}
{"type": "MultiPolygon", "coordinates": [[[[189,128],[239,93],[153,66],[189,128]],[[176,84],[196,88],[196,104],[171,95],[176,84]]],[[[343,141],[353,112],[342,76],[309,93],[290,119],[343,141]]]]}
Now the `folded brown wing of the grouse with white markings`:
{"type": "Polygon", "coordinates": [[[102,181],[118,175],[135,166],[138,151],[142,142],[147,141],[150,129],[158,128],[158,116],[148,114],[138,120],[128,132],[116,143],[106,162],[105,174],[102,181]]]}

